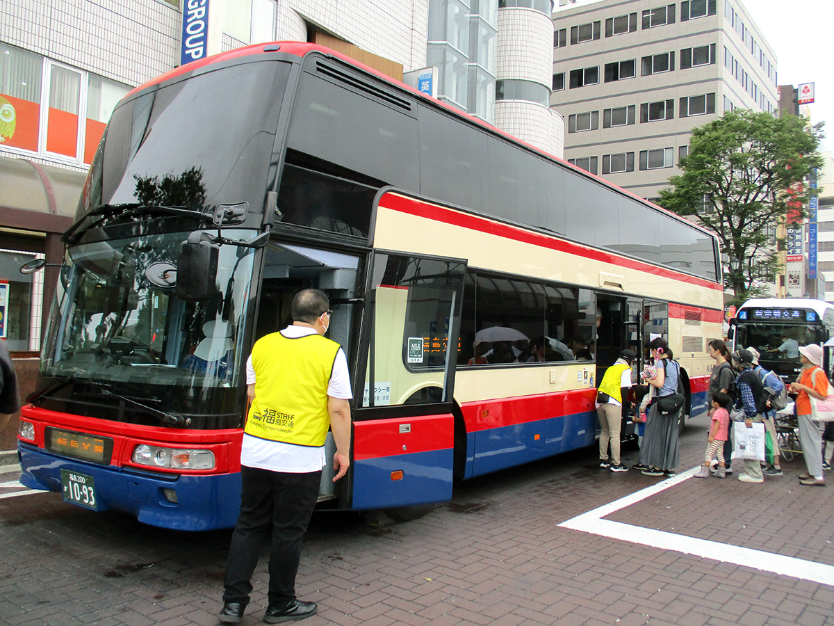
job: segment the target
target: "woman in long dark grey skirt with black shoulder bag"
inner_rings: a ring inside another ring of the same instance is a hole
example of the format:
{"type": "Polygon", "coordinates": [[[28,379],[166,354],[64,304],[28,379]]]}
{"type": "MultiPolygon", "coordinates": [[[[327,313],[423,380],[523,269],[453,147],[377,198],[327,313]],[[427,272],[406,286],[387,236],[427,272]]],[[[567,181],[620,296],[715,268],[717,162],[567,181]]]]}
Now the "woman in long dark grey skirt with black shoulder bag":
{"type": "Polygon", "coordinates": [[[651,388],[651,405],[647,413],[646,434],[640,449],[641,467],[646,476],[675,476],[680,451],[678,449],[678,422],[681,411],[664,415],[658,406],[658,399],[678,392],[681,366],[672,359],[672,351],[665,339],[656,337],[649,344],[656,373],[646,382],[651,388]]]}

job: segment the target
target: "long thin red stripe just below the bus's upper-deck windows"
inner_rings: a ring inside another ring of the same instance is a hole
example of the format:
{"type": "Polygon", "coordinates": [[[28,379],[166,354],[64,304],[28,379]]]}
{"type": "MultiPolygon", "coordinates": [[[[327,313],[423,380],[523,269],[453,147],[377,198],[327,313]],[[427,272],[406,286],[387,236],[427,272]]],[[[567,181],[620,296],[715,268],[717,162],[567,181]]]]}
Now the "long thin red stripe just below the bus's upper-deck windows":
{"type": "Polygon", "coordinates": [[[399,211],[399,213],[407,213],[409,215],[424,217],[428,220],[445,222],[446,224],[460,226],[469,230],[478,230],[489,235],[497,235],[499,237],[504,237],[505,239],[537,245],[540,248],[549,248],[550,250],[558,250],[571,255],[584,256],[586,259],[598,260],[604,263],[610,263],[611,265],[620,265],[621,267],[626,267],[630,270],[640,270],[648,274],[654,274],[664,278],[682,280],[690,283],[691,285],[698,285],[714,290],[723,290],[723,287],[718,283],[713,283],[709,280],[704,280],[696,276],[681,274],[673,270],[666,270],[666,268],[648,265],[638,260],[628,259],[626,257],[614,255],[602,250],[586,248],[583,245],[575,244],[571,241],[559,240],[540,233],[530,232],[529,230],[522,230],[515,226],[501,224],[500,222],[481,218],[476,215],[469,215],[453,209],[447,209],[437,204],[428,204],[418,199],[407,198],[403,195],[394,194],[392,192],[384,194],[382,199],[380,199],[379,204],[384,204],[385,208],[399,211]]]}

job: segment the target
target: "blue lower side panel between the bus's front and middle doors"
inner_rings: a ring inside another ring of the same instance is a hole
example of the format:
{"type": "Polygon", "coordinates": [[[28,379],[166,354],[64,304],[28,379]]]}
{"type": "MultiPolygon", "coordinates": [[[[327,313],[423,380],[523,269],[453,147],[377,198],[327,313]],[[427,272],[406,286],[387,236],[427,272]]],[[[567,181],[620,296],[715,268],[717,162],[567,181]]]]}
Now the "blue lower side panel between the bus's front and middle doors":
{"type": "Polygon", "coordinates": [[[590,446],[595,432],[596,413],[590,411],[475,432],[469,437],[475,454],[467,455],[466,477],[590,446]]]}

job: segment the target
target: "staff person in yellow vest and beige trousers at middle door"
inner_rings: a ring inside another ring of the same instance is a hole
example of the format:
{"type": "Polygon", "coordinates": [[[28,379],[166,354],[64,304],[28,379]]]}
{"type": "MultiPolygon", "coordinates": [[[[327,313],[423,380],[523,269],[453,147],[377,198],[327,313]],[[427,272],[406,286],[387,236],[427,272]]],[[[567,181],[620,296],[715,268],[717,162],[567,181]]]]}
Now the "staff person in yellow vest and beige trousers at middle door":
{"type": "Polygon", "coordinates": [[[623,402],[631,389],[631,363],[636,355],[631,350],[620,352],[620,358],[605,370],[600,389],[596,394],[596,415],[600,418],[600,467],[610,467],[611,472],[628,472],[620,462],[620,427],[623,402]],[[608,457],[608,444],[611,456],[608,457]]]}

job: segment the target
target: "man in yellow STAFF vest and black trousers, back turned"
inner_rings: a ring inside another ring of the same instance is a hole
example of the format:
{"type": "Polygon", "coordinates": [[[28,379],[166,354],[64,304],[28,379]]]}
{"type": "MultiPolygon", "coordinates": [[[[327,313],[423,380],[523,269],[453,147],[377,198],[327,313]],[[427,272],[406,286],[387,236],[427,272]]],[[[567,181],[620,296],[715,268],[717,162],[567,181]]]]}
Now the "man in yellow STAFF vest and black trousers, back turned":
{"type": "Polygon", "coordinates": [[[240,516],[229,547],[220,621],[238,623],[252,591],[260,545],[272,529],[269,607],[265,623],[316,613],[295,597],[301,545],[319,497],[328,427],[336,443],[334,482],[348,471],[350,406],[348,363],[330,326],[323,291],[299,291],[293,323],[255,342],[246,382],[252,405],[240,452],[240,516]]]}

